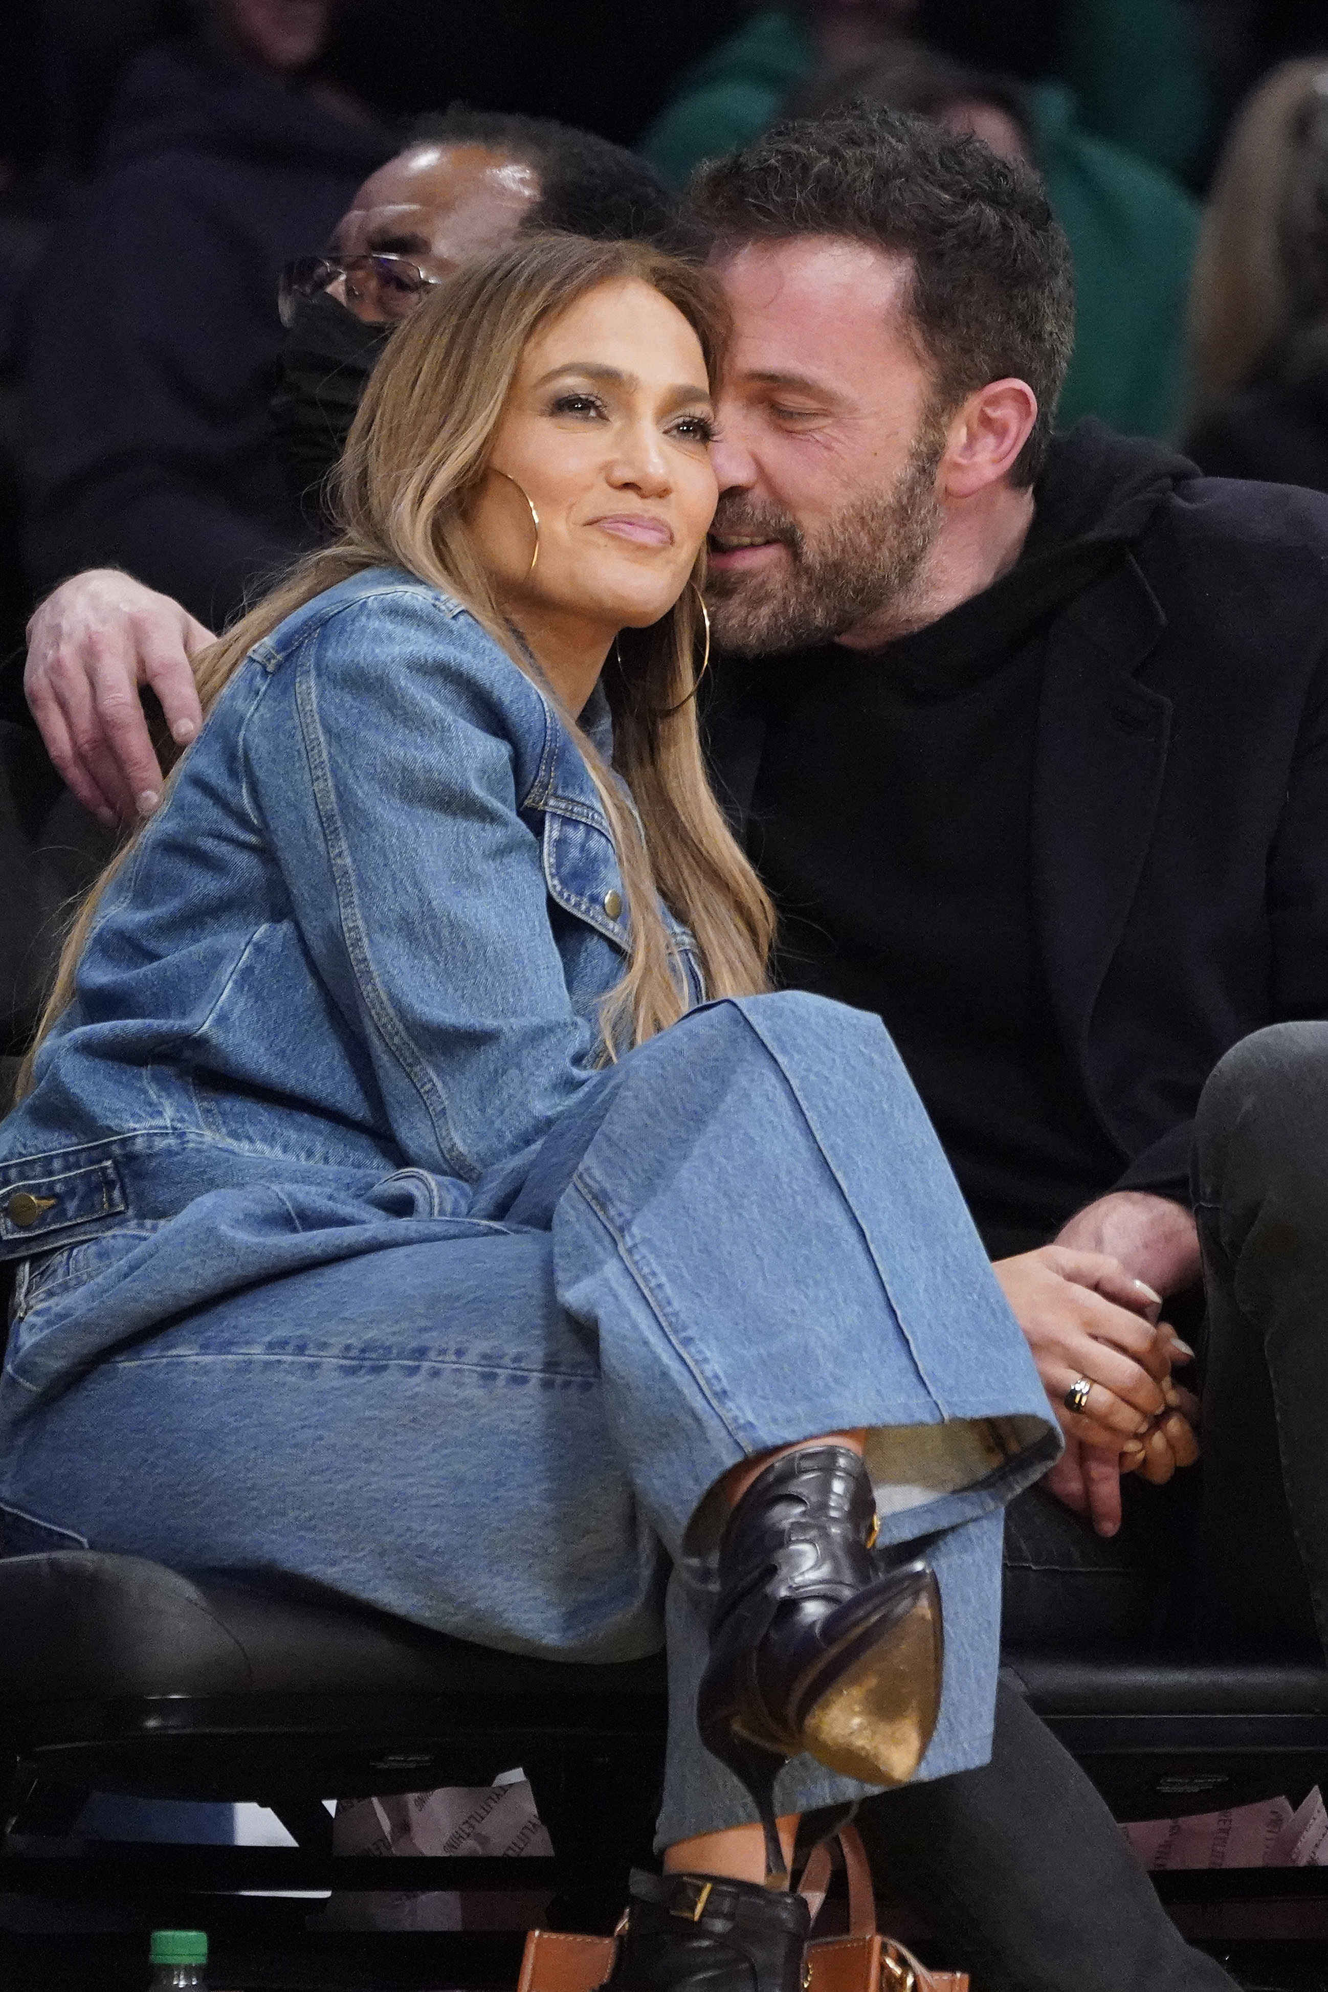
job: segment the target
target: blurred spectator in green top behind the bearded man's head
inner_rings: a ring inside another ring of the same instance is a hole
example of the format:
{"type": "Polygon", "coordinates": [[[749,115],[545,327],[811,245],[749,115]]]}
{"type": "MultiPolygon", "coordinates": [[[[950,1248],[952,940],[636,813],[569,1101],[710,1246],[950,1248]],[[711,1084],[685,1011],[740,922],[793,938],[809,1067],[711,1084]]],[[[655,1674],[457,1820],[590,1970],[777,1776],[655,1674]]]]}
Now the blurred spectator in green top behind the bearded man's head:
{"type": "MultiPolygon", "coordinates": [[[[790,100],[806,104],[810,90],[818,108],[866,98],[924,110],[988,141],[996,133],[976,122],[974,106],[994,104],[1015,122],[1041,169],[1075,261],[1077,335],[1061,422],[1097,414],[1127,434],[1171,436],[1187,406],[1185,311],[1197,203],[1169,173],[1089,131],[1065,84],[1013,90],[902,42],[912,4],[808,0],[755,14],[691,72],[639,149],[681,187],[693,165],[749,143],[790,100]],[[932,92],[924,104],[902,90],[910,60],[914,72],[926,62],[946,70],[958,94],[932,92]]],[[[1103,4],[1095,0],[1095,12],[1103,4]]],[[[1155,4],[1169,12],[1167,0],[1155,4]]],[[[1109,98],[1101,78],[1097,98],[1109,98]]]]}

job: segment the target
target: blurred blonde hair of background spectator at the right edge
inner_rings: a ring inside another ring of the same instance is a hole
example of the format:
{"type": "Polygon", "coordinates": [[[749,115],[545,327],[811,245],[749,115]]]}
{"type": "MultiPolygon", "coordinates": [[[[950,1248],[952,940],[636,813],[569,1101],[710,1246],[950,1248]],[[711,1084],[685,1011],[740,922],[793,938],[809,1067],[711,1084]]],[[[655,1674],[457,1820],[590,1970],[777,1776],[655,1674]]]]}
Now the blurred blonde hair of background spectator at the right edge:
{"type": "Polygon", "coordinates": [[[1193,414],[1328,313],[1328,56],[1250,94],[1213,177],[1191,283],[1193,414]]]}

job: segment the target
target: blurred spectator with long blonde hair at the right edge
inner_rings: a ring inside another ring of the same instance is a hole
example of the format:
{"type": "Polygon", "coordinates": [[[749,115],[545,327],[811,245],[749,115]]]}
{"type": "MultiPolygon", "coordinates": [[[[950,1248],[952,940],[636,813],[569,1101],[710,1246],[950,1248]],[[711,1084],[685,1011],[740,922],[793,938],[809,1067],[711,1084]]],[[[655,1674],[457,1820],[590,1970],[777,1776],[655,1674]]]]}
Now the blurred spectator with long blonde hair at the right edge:
{"type": "Polygon", "coordinates": [[[1328,56],[1274,70],[1226,137],[1191,341],[1195,462],[1328,492],[1328,56]]]}

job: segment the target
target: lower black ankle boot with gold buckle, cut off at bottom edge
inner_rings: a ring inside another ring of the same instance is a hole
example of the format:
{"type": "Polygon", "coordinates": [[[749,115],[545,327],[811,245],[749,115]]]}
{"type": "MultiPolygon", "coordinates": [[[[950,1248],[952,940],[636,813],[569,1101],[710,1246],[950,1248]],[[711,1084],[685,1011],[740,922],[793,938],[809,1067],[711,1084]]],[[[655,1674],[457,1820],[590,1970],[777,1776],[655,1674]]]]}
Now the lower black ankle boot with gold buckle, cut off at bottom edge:
{"type": "Polygon", "coordinates": [[[605,1992],[802,1992],[810,1926],[800,1894],[633,1868],[605,1992]]]}

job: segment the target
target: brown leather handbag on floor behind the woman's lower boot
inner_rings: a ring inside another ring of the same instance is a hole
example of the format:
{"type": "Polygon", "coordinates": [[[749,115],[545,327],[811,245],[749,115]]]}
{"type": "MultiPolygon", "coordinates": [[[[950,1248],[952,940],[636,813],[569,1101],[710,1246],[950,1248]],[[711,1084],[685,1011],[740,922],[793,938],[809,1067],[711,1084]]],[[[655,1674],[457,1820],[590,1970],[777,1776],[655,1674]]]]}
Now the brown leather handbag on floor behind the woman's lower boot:
{"type": "MultiPolygon", "coordinates": [[[[848,1874],[848,1936],[820,1936],[806,1946],[806,1992],[968,1992],[968,1972],[930,1972],[892,1936],[876,1932],[876,1900],[866,1847],[854,1827],[838,1843],[848,1874]]],[[[830,1882],[830,1843],[806,1863],[802,1894],[820,1908],[830,1882]]],[[[530,1930],[518,1992],[597,1992],[613,1970],[617,1938],[530,1930]]]]}

